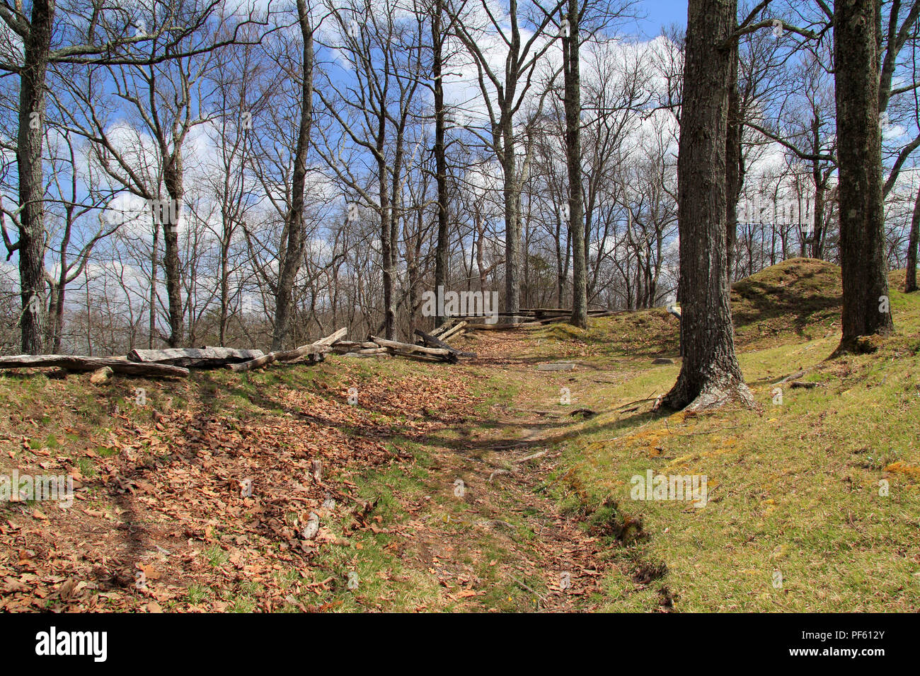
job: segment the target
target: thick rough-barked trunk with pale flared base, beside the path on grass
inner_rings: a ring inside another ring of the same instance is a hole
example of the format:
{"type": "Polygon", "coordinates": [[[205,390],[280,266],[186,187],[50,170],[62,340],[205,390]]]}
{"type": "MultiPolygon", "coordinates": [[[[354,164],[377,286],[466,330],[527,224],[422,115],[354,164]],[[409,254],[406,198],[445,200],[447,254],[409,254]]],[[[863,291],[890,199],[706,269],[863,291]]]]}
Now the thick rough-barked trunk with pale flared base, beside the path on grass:
{"type": "Polygon", "coordinates": [[[737,0],[690,0],[678,157],[684,361],[662,404],[701,410],[753,405],[735,356],[726,248],[726,148],[737,0]]]}

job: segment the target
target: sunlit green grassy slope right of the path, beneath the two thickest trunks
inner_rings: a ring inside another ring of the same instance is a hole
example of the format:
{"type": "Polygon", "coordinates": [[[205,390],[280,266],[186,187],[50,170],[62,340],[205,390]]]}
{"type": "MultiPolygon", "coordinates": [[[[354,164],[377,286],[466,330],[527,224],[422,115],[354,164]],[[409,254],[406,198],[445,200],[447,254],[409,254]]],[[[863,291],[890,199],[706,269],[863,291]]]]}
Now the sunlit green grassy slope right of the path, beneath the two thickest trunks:
{"type": "MultiPolygon", "coordinates": [[[[604,607],[649,610],[664,586],[685,611],[917,610],[920,296],[892,290],[899,337],[876,354],[825,361],[839,340],[834,267],[788,261],[732,295],[742,370],[762,412],[607,412],[567,445],[558,499],[587,514],[614,502],[615,519],[646,533],[625,559],[667,570],[637,590],[633,567],[621,567],[604,607]],[[774,405],[774,383],[803,369],[821,386],[784,389],[774,405]],[[707,475],[707,507],[631,500],[629,478],[647,469],[707,475]]],[[[679,365],[642,365],[673,356],[663,321],[652,311],[592,326],[586,338],[612,335],[610,356],[636,375],[591,399],[610,408],[667,391],[679,365]]]]}

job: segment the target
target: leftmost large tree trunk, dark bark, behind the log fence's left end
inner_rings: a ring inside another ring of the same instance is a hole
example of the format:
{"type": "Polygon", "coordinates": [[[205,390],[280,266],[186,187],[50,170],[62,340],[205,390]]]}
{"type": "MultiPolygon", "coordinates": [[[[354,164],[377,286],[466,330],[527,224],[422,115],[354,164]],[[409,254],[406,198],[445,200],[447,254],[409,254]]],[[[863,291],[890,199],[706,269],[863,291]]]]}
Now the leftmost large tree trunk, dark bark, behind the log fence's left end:
{"type": "Polygon", "coordinates": [[[41,140],[45,127],[45,75],[52,43],[54,0],[32,3],[29,34],[23,40],[19,72],[19,294],[22,349],[39,354],[44,347],[47,306],[45,286],[44,174],[41,140]]]}

